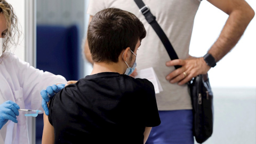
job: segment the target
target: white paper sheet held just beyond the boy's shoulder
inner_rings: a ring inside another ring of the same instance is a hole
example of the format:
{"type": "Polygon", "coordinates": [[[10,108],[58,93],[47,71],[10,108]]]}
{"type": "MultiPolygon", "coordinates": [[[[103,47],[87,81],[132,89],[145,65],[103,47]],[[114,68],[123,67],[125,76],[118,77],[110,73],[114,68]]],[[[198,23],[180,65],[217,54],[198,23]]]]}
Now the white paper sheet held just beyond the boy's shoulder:
{"type": "Polygon", "coordinates": [[[153,83],[155,92],[159,93],[163,91],[162,85],[159,82],[159,79],[153,69],[153,67],[137,70],[138,75],[135,78],[146,78],[148,81],[153,83]]]}

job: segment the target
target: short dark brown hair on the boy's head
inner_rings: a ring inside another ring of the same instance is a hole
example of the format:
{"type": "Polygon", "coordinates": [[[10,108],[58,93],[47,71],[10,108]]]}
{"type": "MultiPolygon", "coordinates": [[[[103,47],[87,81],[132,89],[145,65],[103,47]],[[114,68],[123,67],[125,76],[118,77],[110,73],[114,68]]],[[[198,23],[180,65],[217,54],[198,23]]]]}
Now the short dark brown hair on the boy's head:
{"type": "Polygon", "coordinates": [[[126,47],[134,51],[146,36],[142,22],[132,13],[109,8],[96,13],[87,30],[87,41],[94,62],[118,62],[126,47]]]}

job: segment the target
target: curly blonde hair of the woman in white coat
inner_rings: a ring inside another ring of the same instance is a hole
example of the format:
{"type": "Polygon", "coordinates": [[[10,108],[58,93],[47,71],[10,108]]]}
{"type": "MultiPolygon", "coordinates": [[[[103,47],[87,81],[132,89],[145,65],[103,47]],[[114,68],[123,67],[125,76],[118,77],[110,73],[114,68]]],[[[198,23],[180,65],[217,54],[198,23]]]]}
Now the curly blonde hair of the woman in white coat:
{"type": "Polygon", "coordinates": [[[14,13],[12,5],[7,3],[5,0],[0,0],[0,13],[4,14],[7,25],[5,42],[3,44],[3,52],[5,52],[9,50],[9,44],[14,46],[18,45],[21,31],[18,28],[18,19],[14,13]]]}

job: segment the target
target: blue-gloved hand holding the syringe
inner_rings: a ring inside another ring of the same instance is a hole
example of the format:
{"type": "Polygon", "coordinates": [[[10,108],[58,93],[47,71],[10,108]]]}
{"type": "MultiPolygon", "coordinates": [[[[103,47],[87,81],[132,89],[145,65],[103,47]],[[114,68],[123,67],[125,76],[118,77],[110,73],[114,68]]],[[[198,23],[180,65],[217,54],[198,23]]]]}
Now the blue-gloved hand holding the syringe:
{"type": "Polygon", "coordinates": [[[17,117],[19,115],[20,107],[13,101],[7,100],[0,105],[0,130],[9,121],[18,123],[17,117]]]}

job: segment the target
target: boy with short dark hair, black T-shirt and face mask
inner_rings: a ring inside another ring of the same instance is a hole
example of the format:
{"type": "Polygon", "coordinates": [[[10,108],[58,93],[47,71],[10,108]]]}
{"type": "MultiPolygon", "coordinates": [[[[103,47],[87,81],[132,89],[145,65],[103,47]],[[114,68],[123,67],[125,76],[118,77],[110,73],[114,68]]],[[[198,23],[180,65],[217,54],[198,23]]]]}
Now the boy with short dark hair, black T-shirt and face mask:
{"type": "Polygon", "coordinates": [[[49,103],[42,143],[145,143],[161,123],[154,86],[129,75],[146,30],[134,14],[105,9],[93,17],[87,38],[91,75],[70,84],[49,103]]]}

